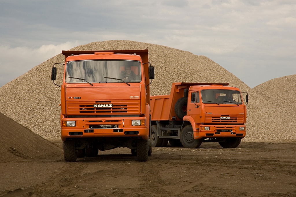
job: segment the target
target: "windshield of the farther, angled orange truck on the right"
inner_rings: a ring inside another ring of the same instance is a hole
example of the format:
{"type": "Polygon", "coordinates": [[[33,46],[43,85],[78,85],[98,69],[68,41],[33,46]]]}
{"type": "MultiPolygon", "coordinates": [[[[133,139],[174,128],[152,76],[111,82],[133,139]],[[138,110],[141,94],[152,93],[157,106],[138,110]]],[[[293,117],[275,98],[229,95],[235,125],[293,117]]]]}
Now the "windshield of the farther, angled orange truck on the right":
{"type": "Polygon", "coordinates": [[[203,103],[242,104],[239,91],[234,90],[202,90],[203,103]]]}

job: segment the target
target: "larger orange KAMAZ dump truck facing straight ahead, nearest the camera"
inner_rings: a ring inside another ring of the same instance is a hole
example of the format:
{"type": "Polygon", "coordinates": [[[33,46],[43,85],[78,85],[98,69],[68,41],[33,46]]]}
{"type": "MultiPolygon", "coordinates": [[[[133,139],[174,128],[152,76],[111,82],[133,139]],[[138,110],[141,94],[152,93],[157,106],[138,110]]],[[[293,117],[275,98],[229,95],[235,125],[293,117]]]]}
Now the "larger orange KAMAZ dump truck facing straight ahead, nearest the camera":
{"type": "MultiPolygon", "coordinates": [[[[62,51],[61,138],[65,161],[128,147],[151,155],[148,50],[62,51]]],[[[52,68],[56,80],[57,68],[52,68]]],[[[57,85],[57,84],[56,84],[57,85]]]]}

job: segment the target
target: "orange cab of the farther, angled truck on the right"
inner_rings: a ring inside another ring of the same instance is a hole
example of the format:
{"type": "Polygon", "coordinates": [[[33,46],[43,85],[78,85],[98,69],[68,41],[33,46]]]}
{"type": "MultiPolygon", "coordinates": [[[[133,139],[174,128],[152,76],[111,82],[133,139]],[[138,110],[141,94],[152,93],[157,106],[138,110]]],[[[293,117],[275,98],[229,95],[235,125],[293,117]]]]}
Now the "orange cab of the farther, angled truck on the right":
{"type": "Polygon", "coordinates": [[[223,85],[200,85],[189,88],[187,113],[194,139],[246,135],[246,106],[238,88],[223,85]]]}

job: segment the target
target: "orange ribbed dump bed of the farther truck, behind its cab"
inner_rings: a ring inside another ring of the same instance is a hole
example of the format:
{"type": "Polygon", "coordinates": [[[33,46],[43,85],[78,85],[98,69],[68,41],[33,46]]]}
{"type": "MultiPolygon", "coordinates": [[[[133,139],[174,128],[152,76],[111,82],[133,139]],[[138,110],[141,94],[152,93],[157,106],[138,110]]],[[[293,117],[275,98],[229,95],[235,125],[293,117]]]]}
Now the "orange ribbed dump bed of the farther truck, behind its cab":
{"type": "Polygon", "coordinates": [[[173,83],[169,95],[150,96],[151,120],[178,120],[175,104],[184,96],[184,90],[193,85],[228,85],[228,83],[173,83]]]}

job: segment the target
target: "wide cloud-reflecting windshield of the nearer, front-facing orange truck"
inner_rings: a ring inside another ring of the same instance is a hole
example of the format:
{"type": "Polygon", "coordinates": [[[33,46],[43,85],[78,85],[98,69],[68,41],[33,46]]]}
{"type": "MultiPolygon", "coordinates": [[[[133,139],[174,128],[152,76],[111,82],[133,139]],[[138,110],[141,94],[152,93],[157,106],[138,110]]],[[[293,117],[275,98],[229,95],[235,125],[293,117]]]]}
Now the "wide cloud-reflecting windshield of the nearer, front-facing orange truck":
{"type": "Polygon", "coordinates": [[[67,83],[140,82],[140,62],[128,60],[68,62],[65,81],[67,83]]]}

